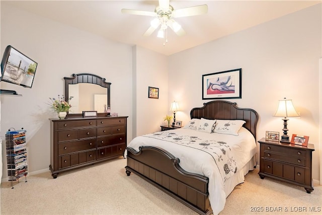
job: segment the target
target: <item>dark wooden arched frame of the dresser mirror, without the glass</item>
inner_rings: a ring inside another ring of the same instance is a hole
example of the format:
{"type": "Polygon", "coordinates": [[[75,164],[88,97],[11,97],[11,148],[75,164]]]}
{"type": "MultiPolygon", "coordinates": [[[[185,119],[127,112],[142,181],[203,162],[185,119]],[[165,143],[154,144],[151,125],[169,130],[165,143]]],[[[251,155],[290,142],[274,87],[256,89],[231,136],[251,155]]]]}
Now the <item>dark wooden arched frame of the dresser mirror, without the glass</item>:
{"type": "MultiPolygon", "coordinates": [[[[72,74],[72,77],[64,77],[65,80],[65,101],[69,98],[69,85],[79,83],[96,84],[107,88],[107,105],[111,106],[111,83],[106,82],[104,78],[89,73],[72,74]]],[[[97,113],[97,116],[106,116],[106,113],[97,113]]],[[[83,117],[83,113],[67,113],[66,117],[83,117]]]]}

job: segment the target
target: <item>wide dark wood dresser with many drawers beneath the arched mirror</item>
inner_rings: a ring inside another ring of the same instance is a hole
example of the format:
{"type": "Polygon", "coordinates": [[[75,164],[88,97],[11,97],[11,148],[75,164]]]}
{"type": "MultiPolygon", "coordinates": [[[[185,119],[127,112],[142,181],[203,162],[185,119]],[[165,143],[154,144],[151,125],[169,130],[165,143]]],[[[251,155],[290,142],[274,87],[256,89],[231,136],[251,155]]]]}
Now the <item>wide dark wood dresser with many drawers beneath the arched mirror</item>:
{"type": "Polygon", "coordinates": [[[116,158],[126,148],[127,116],[50,119],[51,175],[116,158]]]}

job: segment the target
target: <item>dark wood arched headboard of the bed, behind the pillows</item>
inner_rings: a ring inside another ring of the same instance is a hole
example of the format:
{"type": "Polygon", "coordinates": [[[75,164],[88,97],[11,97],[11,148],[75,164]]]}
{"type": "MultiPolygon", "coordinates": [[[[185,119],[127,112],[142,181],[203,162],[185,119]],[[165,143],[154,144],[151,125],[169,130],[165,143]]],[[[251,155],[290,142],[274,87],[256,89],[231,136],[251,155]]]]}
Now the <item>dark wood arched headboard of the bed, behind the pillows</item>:
{"type": "Polygon", "coordinates": [[[238,108],[236,103],[228,101],[211,101],[203,104],[203,107],[193,108],[190,117],[205,119],[241,119],[246,123],[243,125],[254,135],[256,139],[256,127],[258,113],[250,108],[238,108]]]}

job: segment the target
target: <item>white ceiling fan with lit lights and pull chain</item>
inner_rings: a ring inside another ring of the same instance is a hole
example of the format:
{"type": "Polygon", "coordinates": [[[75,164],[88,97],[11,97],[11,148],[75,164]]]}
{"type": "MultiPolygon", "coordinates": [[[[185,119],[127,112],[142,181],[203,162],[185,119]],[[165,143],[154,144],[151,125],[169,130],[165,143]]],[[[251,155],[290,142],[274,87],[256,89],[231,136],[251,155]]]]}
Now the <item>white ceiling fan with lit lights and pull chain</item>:
{"type": "Polygon", "coordinates": [[[155,31],[155,29],[157,29],[160,26],[157,37],[166,38],[166,40],[168,27],[170,27],[179,36],[183,36],[186,34],[186,32],[182,29],[181,25],[177,23],[173,18],[202,15],[208,12],[207,5],[199,5],[190,8],[175,10],[169,4],[169,0],[158,0],[158,2],[159,5],[155,8],[154,12],[138,11],[131,9],[122,9],[121,12],[123,14],[156,17],[150,22],[151,26],[147,29],[143,36],[150,36],[155,31]]]}

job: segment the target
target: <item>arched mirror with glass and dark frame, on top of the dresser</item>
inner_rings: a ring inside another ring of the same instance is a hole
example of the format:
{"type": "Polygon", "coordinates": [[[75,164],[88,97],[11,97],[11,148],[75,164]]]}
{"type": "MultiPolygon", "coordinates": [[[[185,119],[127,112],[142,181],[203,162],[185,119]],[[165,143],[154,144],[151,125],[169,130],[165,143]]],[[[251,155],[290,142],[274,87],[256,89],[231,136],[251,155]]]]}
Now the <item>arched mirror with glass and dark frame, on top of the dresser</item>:
{"type": "Polygon", "coordinates": [[[97,111],[98,116],[106,116],[104,111],[111,105],[111,83],[93,74],[82,73],[71,76],[71,78],[64,77],[65,100],[73,97],[69,101],[71,108],[66,117],[82,117],[83,111],[97,111]]]}

